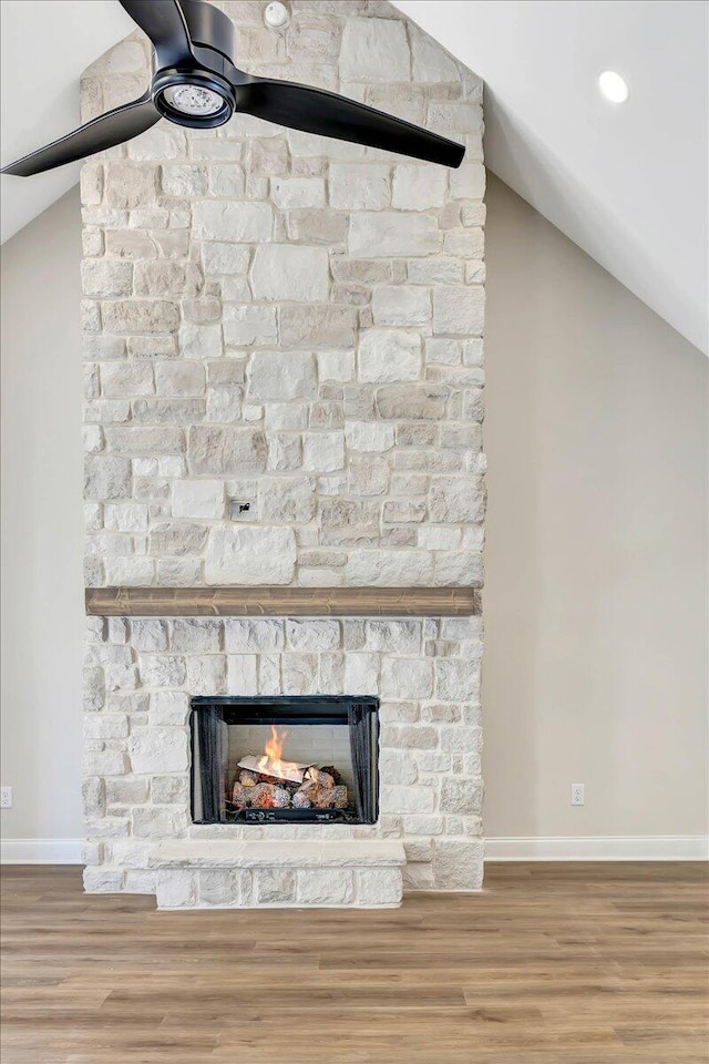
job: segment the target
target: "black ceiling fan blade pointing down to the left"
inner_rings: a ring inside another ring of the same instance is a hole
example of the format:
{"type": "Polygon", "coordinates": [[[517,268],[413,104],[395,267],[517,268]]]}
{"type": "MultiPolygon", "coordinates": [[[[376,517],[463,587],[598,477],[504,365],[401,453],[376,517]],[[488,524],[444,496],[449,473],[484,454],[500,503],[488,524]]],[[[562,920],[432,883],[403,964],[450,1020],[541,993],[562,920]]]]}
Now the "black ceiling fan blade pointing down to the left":
{"type": "Polygon", "coordinates": [[[80,125],[73,133],[53,141],[47,147],[40,147],[31,155],[19,158],[17,163],[3,166],[0,174],[31,177],[32,174],[54,170],[65,163],[73,163],[78,158],[123,144],[124,141],[130,141],[138,133],[150,130],[157,121],[160,121],[160,114],[153,105],[150,92],[146,92],[140,100],[125,103],[113,111],[106,111],[105,114],[100,114],[97,119],[80,125]]]}

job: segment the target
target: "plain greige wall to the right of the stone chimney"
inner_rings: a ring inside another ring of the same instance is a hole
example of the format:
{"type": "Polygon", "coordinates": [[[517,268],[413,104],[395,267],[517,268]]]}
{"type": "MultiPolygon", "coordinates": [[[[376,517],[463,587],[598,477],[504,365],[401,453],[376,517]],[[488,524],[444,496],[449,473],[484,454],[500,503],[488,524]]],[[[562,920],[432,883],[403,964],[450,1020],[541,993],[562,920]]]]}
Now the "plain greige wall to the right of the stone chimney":
{"type": "Polygon", "coordinates": [[[487,221],[485,835],[705,833],[709,361],[492,177],[487,221]]]}

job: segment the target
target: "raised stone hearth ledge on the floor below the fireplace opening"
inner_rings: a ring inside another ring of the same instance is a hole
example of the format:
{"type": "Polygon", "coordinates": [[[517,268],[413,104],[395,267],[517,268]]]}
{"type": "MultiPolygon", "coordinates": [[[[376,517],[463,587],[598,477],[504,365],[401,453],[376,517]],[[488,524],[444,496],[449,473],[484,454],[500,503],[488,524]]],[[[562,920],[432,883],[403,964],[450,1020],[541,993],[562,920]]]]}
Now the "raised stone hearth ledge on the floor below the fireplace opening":
{"type": "Polygon", "coordinates": [[[150,858],[158,909],[391,909],[404,863],[399,839],[162,842],[150,858]]]}

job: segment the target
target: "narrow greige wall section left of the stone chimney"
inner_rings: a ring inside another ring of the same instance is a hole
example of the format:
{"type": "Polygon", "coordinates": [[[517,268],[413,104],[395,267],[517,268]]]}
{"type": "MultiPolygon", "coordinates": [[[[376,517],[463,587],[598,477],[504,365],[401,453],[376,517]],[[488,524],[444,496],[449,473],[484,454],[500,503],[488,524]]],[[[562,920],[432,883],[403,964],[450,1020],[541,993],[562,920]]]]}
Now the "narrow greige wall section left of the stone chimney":
{"type": "Polygon", "coordinates": [[[80,260],[76,188],[2,247],[7,838],[82,835],[80,260]]]}

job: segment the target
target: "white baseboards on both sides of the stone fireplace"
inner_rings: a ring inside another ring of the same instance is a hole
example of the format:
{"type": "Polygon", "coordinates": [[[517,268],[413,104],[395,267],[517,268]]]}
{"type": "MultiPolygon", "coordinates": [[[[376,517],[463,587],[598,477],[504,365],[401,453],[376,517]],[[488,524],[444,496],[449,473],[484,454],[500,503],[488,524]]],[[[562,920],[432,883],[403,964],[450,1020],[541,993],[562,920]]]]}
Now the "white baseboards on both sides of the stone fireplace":
{"type": "MultiPolygon", "coordinates": [[[[81,839],[2,839],[3,864],[82,864],[81,839]]],[[[485,839],[486,861],[706,861],[706,835],[485,839]]]]}

